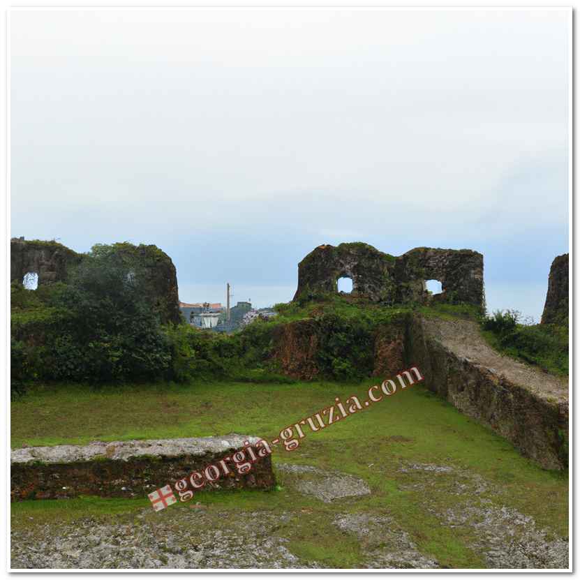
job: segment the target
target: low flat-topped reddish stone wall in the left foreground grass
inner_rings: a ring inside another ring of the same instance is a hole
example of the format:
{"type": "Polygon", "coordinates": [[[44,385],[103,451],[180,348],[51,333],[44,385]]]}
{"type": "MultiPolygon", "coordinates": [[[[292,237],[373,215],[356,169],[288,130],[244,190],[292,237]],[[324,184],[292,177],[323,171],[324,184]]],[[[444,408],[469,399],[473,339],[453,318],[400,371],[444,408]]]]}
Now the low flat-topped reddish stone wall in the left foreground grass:
{"type": "MultiPolygon", "coordinates": [[[[10,453],[10,498],[59,499],[77,496],[147,497],[148,493],[193,471],[203,470],[258,438],[247,436],[101,441],[89,445],[25,447],[10,453]]],[[[250,473],[231,473],[204,489],[270,489],[275,479],[270,456],[253,463],[250,473]]],[[[177,495],[177,494],[176,494],[177,495]]]]}

